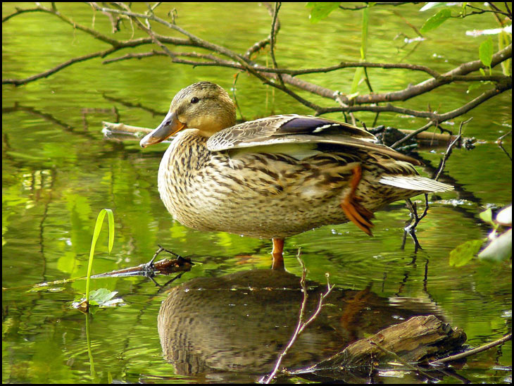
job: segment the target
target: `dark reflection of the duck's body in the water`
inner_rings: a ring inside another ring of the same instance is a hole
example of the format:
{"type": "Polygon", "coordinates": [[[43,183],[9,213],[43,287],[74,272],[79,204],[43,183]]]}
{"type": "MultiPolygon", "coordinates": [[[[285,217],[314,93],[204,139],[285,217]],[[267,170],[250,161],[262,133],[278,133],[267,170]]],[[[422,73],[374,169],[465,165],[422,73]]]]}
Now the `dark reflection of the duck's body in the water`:
{"type": "MultiPolygon", "coordinates": [[[[196,278],[174,287],[158,315],[165,359],[180,375],[270,372],[298,323],[303,299],[299,281],[284,271],[249,270],[221,278],[196,278]]],[[[327,290],[319,283],[307,285],[306,318],[327,290]]],[[[430,313],[437,313],[430,301],[403,298],[391,302],[369,289],[334,289],[282,365],[308,366],[365,335],[430,313]]]]}

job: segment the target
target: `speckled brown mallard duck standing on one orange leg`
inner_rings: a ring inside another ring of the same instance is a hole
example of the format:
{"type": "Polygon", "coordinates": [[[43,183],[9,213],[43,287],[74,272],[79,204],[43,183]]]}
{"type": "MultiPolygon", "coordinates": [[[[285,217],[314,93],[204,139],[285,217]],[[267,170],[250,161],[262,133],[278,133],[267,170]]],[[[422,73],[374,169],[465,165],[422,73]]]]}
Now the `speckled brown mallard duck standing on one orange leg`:
{"type": "Polygon", "coordinates": [[[453,189],[355,125],[296,114],[236,124],[234,102],[213,82],[177,92],[139,144],[172,136],[157,178],[165,208],[189,228],[271,239],[274,270],[284,270],[287,237],[349,221],[372,235],[385,205],[453,189]]]}

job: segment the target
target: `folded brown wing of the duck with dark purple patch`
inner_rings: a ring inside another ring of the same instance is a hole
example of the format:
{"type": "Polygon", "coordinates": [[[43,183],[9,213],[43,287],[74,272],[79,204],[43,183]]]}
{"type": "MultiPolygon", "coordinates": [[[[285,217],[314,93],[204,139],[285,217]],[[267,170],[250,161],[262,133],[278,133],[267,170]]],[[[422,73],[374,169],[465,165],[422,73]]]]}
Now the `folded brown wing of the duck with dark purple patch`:
{"type": "MultiPolygon", "coordinates": [[[[239,125],[227,127],[211,136],[207,148],[211,151],[244,149],[249,147],[278,147],[296,144],[301,147],[313,144],[334,144],[356,147],[368,151],[387,154],[399,161],[422,165],[415,158],[405,156],[384,145],[375,144],[377,138],[370,132],[348,123],[313,116],[282,115],[250,120],[239,125]]],[[[284,147],[280,147],[284,149],[284,147]]],[[[258,149],[248,149],[258,151],[258,149]]]]}

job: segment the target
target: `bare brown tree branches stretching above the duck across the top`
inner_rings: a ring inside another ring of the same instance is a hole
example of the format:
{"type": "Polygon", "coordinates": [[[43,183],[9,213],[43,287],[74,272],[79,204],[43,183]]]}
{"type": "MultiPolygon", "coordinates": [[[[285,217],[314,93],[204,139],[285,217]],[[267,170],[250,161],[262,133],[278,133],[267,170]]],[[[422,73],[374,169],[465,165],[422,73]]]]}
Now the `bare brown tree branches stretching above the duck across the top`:
{"type": "MultiPolygon", "coordinates": [[[[279,4],[275,5],[275,10],[272,10],[270,6],[267,6],[268,11],[272,15],[272,27],[270,31],[270,35],[267,38],[261,40],[260,42],[256,42],[251,45],[251,47],[246,50],[245,54],[238,54],[230,49],[227,49],[225,46],[220,46],[218,44],[214,44],[203,40],[187,30],[182,29],[175,25],[175,20],[173,23],[169,23],[166,20],[158,18],[153,11],[157,6],[160,6],[161,3],[156,4],[153,8],[150,8],[146,11],[146,13],[134,13],[130,9],[129,4],[124,3],[115,3],[113,4],[113,8],[101,7],[99,4],[90,3],[90,5],[96,10],[101,11],[106,15],[115,15],[116,20],[111,20],[113,24],[113,30],[118,30],[119,20],[128,19],[131,20],[132,23],[137,25],[139,29],[143,30],[149,37],[144,38],[135,38],[129,39],[125,41],[120,41],[116,39],[112,39],[101,32],[91,29],[89,27],[85,27],[83,25],[75,23],[74,20],[66,17],[62,13],[57,11],[56,5],[53,4],[52,8],[46,8],[44,6],[38,5],[35,8],[30,9],[18,9],[15,13],[6,16],[4,21],[9,20],[10,18],[20,15],[25,12],[44,12],[51,13],[56,15],[58,18],[63,20],[64,23],[68,23],[72,25],[77,30],[81,30],[89,35],[91,35],[94,39],[98,39],[101,42],[106,44],[110,44],[111,48],[99,51],[93,54],[88,54],[86,56],[81,56],[78,58],[73,58],[70,61],[65,63],[61,63],[61,65],[56,66],[51,70],[47,70],[44,73],[33,75],[32,77],[28,77],[25,80],[13,80],[6,79],[2,80],[3,84],[13,84],[13,85],[23,85],[27,82],[32,82],[34,80],[40,79],[41,77],[48,77],[53,73],[56,73],[59,70],[67,66],[71,66],[74,63],[79,61],[86,61],[91,58],[97,57],[106,57],[112,55],[116,51],[120,49],[129,48],[132,49],[136,46],[142,46],[146,44],[156,44],[161,47],[163,51],[156,52],[151,51],[149,53],[143,54],[128,54],[122,56],[120,58],[109,59],[108,61],[104,61],[104,63],[113,63],[113,61],[119,60],[127,60],[132,58],[144,58],[151,57],[156,55],[166,55],[169,56],[173,63],[181,63],[188,66],[218,66],[218,67],[226,67],[226,68],[234,68],[237,70],[245,71],[250,75],[253,75],[258,80],[261,80],[264,85],[268,85],[270,87],[275,87],[280,89],[282,92],[288,94],[293,97],[301,104],[312,108],[316,114],[324,114],[330,112],[342,112],[342,113],[353,113],[356,111],[370,111],[375,113],[380,113],[383,111],[389,111],[394,113],[408,114],[410,116],[415,116],[418,118],[428,118],[429,123],[422,127],[422,130],[427,130],[427,128],[435,125],[439,125],[439,123],[444,122],[445,120],[450,120],[456,118],[457,116],[462,115],[470,111],[472,108],[475,108],[479,104],[484,103],[488,99],[495,97],[501,92],[505,92],[508,89],[512,88],[512,80],[510,77],[506,77],[503,75],[469,75],[477,70],[485,68],[481,61],[471,61],[468,63],[463,63],[452,70],[447,71],[446,73],[439,73],[432,68],[427,68],[426,66],[416,66],[406,63],[367,63],[367,62],[341,62],[334,66],[327,66],[325,68],[310,68],[310,69],[302,69],[302,70],[294,70],[289,68],[279,68],[276,61],[272,61],[272,67],[261,66],[258,63],[251,60],[251,56],[257,54],[260,49],[270,45],[270,54],[272,59],[275,57],[275,39],[276,35],[280,30],[280,22],[277,18],[277,14],[280,8],[279,4]],[[161,25],[165,25],[170,28],[170,30],[175,30],[183,35],[183,38],[178,37],[168,37],[163,35],[158,35],[156,32],[153,32],[151,29],[151,22],[159,23],[161,25]],[[201,53],[192,53],[192,52],[177,52],[170,51],[165,44],[171,44],[175,47],[188,46],[188,47],[196,47],[199,49],[205,49],[208,51],[206,54],[201,53]],[[418,83],[417,85],[409,85],[405,89],[396,91],[396,92],[386,92],[383,94],[361,94],[355,97],[351,97],[345,94],[341,94],[337,90],[328,89],[326,87],[322,87],[320,85],[315,85],[311,82],[306,82],[304,80],[300,80],[297,78],[299,75],[306,75],[312,73],[328,73],[335,70],[340,70],[342,68],[401,68],[407,71],[422,71],[430,75],[427,80],[418,83]],[[277,82],[278,80],[278,82],[277,82]],[[403,108],[399,106],[393,106],[391,103],[395,101],[406,101],[413,97],[417,97],[421,94],[425,94],[427,92],[432,91],[432,89],[436,89],[437,87],[441,87],[443,85],[448,85],[452,82],[483,82],[489,81],[494,82],[495,85],[492,89],[487,90],[480,94],[477,98],[472,101],[467,102],[463,106],[456,108],[453,111],[449,111],[446,113],[436,113],[434,111],[415,111],[410,108],[403,108]],[[310,92],[311,94],[316,94],[321,97],[325,97],[330,99],[331,101],[338,102],[338,106],[335,107],[323,107],[318,104],[315,104],[313,101],[309,101],[304,97],[301,97],[299,94],[294,92],[292,89],[287,87],[287,85],[292,85],[304,91],[310,92]],[[379,104],[387,103],[384,105],[379,104]]],[[[391,4],[398,5],[398,4],[391,4]]],[[[497,66],[503,61],[508,60],[512,57],[512,45],[507,46],[505,49],[498,51],[493,55],[493,59],[491,62],[491,68],[497,66]]],[[[396,144],[398,146],[398,144],[396,144]]]]}

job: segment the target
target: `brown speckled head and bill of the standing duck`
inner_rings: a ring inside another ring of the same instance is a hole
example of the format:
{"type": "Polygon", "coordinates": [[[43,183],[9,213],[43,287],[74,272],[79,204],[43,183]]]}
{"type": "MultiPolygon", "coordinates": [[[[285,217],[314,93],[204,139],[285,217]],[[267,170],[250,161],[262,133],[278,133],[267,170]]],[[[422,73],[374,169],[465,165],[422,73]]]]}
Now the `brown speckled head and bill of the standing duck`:
{"type": "Polygon", "coordinates": [[[211,82],[197,82],[177,93],[170,111],[161,125],[146,135],[139,144],[156,144],[187,128],[199,130],[199,135],[211,137],[236,123],[236,107],[222,87],[211,82]]]}

